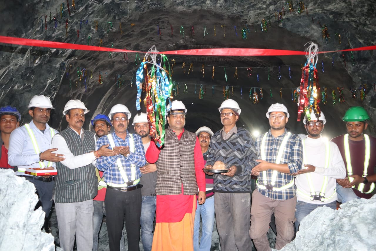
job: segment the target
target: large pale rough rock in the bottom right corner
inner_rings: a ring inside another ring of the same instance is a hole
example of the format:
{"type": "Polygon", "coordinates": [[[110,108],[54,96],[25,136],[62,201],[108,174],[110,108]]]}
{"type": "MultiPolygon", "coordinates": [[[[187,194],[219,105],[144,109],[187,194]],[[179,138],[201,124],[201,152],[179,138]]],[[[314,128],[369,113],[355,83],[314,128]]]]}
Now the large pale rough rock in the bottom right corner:
{"type": "Polygon", "coordinates": [[[300,223],[293,242],[281,250],[376,250],[376,196],[351,200],[340,210],[318,207],[300,223]]]}

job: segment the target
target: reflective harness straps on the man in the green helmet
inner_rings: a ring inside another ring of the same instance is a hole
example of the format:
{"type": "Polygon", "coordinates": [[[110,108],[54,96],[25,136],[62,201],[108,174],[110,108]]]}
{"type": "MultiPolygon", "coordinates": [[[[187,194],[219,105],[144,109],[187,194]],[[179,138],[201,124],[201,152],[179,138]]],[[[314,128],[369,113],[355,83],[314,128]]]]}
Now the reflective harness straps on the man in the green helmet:
{"type": "MultiPolygon", "coordinates": [[[[364,169],[363,169],[363,175],[362,177],[367,177],[368,175],[368,165],[370,164],[370,156],[371,156],[371,143],[370,143],[370,137],[367,134],[363,134],[364,141],[365,141],[365,156],[364,156],[364,169]]],[[[350,147],[349,147],[349,134],[345,134],[343,136],[343,145],[345,148],[345,157],[347,162],[347,175],[353,175],[352,171],[352,165],[351,165],[351,156],[350,156],[350,147]]],[[[352,182],[354,178],[349,177],[349,181],[352,182]]],[[[367,192],[363,191],[364,184],[360,183],[358,185],[358,188],[353,186],[352,188],[357,189],[361,193],[372,193],[372,191],[375,188],[374,182],[371,183],[370,190],[367,192]]]]}

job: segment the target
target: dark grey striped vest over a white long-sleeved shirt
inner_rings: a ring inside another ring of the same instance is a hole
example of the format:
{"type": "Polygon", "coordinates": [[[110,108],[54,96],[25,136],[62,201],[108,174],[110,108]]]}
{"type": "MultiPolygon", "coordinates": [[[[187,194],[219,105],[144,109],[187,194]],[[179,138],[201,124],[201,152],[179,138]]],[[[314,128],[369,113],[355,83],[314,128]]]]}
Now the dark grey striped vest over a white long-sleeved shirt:
{"type": "MultiPolygon", "coordinates": [[[[84,131],[83,140],[71,128],[60,133],[74,156],[89,153],[95,150],[94,133],[84,131]]],[[[58,175],[55,176],[54,201],[56,203],[81,202],[94,198],[98,193],[98,179],[95,167],[92,164],[70,169],[61,162],[56,162],[58,175]]]]}

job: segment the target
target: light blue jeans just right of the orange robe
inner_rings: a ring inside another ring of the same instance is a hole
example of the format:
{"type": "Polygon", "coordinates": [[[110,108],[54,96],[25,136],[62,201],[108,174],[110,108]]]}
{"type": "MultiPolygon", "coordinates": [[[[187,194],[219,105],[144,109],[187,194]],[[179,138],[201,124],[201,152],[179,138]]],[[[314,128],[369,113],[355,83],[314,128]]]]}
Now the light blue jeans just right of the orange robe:
{"type": "Polygon", "coordinates": [[[211,237],[214,225],[214,196],[205,200],[199,205],[197,202],[196,215],[194,216],[194,251],[209,251],[211,248],[211,237]],[[202,219],[202,236],[199,245],[200,216],[202,219]]]}

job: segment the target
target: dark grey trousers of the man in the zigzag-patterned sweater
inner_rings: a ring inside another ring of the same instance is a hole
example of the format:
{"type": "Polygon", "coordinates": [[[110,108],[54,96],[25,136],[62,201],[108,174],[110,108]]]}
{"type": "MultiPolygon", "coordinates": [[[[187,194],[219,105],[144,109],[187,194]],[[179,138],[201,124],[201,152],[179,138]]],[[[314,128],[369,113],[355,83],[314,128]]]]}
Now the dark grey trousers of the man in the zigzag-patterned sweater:
{"type": "Polygon", "coordinates": [[[250,251],[250,193],[214,193],[215,219],[221,251],[250,251]]]}

